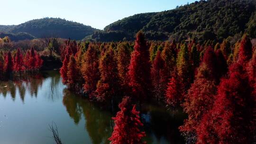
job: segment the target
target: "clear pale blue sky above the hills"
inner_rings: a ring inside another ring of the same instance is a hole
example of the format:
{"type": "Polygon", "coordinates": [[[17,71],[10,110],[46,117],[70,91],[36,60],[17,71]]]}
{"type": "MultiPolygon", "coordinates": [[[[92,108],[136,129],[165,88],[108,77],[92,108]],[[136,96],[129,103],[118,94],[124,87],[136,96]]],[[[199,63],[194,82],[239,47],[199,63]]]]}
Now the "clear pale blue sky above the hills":
{"type": "Polygon", "coordinates": [[[195,0],[0,0],[0,25],[53,17],[103,29],[137,13],[174,9],[195,0]]]}

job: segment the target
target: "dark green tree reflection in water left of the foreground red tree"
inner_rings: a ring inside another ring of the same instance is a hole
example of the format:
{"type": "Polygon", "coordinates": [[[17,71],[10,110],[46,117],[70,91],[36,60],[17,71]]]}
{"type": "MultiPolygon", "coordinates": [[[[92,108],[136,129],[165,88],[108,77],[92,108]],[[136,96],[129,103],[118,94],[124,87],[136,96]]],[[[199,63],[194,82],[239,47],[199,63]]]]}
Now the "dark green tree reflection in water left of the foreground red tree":
{"type": "Polygon", "coordinates": [[[109,144],[113,121],[109,111],[105,111],[94,103],[64,90],[63,104],[74,123],[78,124],[81,116],[85,119],[85,128],[93,144],[109,144]]]}

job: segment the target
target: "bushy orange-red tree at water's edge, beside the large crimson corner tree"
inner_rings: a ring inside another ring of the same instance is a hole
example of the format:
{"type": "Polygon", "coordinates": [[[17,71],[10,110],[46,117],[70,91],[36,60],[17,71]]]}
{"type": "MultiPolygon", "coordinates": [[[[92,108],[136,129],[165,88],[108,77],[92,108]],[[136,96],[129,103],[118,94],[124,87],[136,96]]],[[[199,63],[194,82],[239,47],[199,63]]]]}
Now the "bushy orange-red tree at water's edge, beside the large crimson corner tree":
{"type": "Polygon", "coordinates": [[[215,101],[216,86],[213,81],[197,78],[185,96],[183,111],[188,114],[180,130],[185,134],[195,133],[203,114],[208,113],[215,101]]]}

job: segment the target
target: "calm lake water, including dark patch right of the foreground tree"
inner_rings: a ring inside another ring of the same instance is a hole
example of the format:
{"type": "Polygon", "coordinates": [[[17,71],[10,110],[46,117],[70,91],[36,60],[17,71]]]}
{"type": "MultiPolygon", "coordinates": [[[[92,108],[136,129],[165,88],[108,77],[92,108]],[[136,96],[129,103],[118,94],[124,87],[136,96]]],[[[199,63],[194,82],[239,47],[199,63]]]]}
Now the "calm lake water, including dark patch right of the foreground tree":
{"type": "MultiPolygon", "coordinates": [[[[54,144],[52,122],[64,144],[108,144],[111,117],[110,111],[66,90],[57,71],[22,82],[0,81],[0,144],[54,144]]],[[[182,113],[145,104],[141,117],[147,144],[184,143],[177,130],[182,113]]]]}

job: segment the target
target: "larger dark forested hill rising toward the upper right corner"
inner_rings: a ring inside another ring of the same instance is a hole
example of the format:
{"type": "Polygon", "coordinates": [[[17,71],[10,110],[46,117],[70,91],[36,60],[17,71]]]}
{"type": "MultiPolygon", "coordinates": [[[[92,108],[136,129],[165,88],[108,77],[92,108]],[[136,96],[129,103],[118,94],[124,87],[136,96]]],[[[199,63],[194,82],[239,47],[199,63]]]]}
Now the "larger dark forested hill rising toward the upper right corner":
{"type": "Polygon", "coordinates": [[[143,30],[149,40],[221,40],[245,31],[256,37],[256,0],[200,0],[176,9],[118,20],[85,39],[133,40],[143,30]]]}

